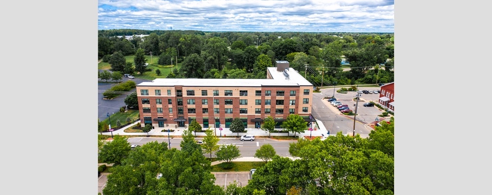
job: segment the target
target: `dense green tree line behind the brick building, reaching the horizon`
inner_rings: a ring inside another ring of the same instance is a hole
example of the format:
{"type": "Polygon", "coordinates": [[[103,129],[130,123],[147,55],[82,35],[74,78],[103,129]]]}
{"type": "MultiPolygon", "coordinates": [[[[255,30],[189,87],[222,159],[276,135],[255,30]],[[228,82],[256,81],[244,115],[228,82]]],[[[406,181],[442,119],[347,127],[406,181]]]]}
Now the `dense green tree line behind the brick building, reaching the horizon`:
{"type": "MultiPolygon", "coordinates": [[[[158,65],[183,62],[167,78],[265,78],[267,67],[287,60],[316,86],[394,81],[393,33],[148,31],[148,36],[126,40],[113,34],[129,30],[101,31],[100,59],[113,65],[118,63],[111,61],[116,53],[127,56],[141,49],[157,56],[158,65]],[[350,71],[341,68],[343,59],[350,71]],[[232,69],[225,69],[227,63],[232,69]]],[[[117,66],[121,69],[124,64],[117,66]]]]}

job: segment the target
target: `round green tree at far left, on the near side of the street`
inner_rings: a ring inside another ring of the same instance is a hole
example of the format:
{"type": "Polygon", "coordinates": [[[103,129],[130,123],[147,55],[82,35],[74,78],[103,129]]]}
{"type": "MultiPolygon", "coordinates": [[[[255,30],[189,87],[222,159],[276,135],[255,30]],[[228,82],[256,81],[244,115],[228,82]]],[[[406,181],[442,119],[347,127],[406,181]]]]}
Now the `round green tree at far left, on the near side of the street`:
{"type": "Polygon", "coordinates": [[[113,141],[102,146],[99,152],[99,160],[119,165],[130,153],[130,143],[127,139],[127,137],[122,135],[113,136],[113,141]]]}

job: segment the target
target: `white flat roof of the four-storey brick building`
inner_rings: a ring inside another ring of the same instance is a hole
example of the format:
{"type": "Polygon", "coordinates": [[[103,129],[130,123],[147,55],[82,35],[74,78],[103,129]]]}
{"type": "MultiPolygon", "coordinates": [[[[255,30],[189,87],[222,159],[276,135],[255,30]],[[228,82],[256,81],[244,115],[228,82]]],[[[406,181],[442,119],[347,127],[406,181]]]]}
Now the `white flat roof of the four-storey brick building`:
{"type": "Polygon", "coordinates": [[[142,82],[137,86],[189,86],[189,87],[262,87],[262,86],[313,86],[294,68],[289,67],[289,79],[277,67],[268,67],[273,79],[197,79],[197,78],[157,78],[152,82],[142,82]]]}

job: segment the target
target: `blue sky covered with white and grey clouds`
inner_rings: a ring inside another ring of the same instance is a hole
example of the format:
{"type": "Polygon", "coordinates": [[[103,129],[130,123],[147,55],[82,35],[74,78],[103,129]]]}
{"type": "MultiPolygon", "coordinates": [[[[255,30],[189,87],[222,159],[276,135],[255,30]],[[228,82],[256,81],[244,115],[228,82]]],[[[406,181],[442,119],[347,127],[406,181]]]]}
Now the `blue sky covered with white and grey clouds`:
{"type": "Polygon", "coordinates": [[[394,32],[394,0],[98,0],[98,30],[394,32]]]}

